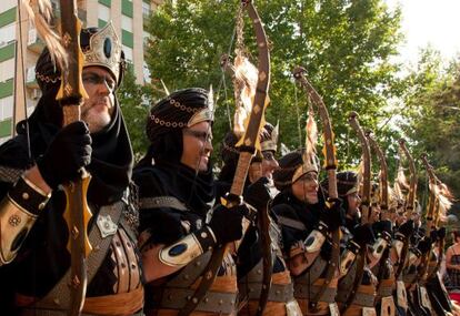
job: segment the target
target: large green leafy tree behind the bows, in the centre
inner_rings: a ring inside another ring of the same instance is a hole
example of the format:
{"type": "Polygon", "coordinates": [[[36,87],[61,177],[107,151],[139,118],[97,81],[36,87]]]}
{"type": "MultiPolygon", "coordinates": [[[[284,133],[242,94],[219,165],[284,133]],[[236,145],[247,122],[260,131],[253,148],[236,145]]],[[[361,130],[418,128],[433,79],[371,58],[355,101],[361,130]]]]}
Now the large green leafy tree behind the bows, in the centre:
{"type": "MultiPolygon", "coordinates": [[[[219,86],[219,59],[229,51],[239,3],[164,1],[148,26],[153,37],[147,58],[152,75],[171,90],[219,86]]],[[[403,82],[396,77],[399,65],[390,62],[401,39],[400,11],[390,12],[382,0],[260,0],[256,6],[271,43],[272,102],[267,119],[280,121],[281,142],[291,149],[299,146],[298,120],[304,124],[308,105],[304,93],[294,86],[291,71],[303,65],[330,109],[341,164],[356,163],[358,142],[348,141],[348,136],[354,136],[349,132],[347,113],[359,112],[362,125],[376,129],[387,115],[386,100],[403,92],[403,82]],[[296,115],[298,110],[300,118],[296,115]]],[[[246,20],[246,45],[257,64],[253,30],[246,20]]],[[[233,95],[231,88],[228,95],[233,95]]],[[[231,100],[218,102],[217,142],[229,130],[226,102],[232,104],[231,100]]],[[[390,132],[383,129],[378,136],[390,132]]]]}

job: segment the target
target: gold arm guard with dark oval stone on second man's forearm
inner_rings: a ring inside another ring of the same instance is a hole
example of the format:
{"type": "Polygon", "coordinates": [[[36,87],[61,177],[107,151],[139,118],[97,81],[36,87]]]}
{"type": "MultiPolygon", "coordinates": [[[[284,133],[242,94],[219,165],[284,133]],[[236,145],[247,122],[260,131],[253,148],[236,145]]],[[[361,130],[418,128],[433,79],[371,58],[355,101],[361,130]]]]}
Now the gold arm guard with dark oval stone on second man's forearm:
{"type": "Polygon", "coordinates": [[[159,259],[168,266],[186,266],[204,252],[212,249],[214,245],[214,233],[209,226],[204,226],[172,245],[163,247],[159,253],[159,259]]]}

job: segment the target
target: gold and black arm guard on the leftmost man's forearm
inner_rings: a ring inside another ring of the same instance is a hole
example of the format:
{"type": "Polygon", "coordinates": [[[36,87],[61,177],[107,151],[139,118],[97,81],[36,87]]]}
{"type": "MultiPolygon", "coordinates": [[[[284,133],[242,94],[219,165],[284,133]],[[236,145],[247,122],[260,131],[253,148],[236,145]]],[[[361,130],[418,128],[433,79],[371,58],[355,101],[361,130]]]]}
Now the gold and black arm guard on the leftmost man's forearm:
{"type": "Polygon", "coordinates": [[[14,259],[50,197],[21,176],[0,202],[0,266],[14,259]]]}

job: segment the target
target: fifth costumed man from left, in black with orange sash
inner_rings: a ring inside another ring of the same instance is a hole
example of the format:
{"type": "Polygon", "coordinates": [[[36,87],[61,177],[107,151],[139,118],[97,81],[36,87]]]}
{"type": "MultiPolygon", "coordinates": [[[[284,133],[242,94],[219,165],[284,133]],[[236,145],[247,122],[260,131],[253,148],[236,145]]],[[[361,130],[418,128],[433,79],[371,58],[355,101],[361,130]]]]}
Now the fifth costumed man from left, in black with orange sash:
{"type": "Polygon", "coordinates": [[[364,247],[373,245],[376,238],[370,224],[360,224],[359,176],[346,171],[337,174],[337,190],[347,212],[342,227],[342,249],[340,262],[341,279],[338,285],[337,302],[340,315],[366,315],[374,313],[377,278],[364,262],[358,264],[358,255],[364,247]]]}

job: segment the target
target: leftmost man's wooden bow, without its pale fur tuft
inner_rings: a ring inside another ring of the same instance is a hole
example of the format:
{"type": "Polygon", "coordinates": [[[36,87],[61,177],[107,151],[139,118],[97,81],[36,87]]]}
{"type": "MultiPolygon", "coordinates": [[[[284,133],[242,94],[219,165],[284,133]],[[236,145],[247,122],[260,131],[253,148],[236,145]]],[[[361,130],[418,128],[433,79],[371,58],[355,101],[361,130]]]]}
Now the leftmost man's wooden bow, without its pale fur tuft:
{"type": "MultiPolygon", "coordinates": [[[[77,1],[60,0],[62,44],[69,54],[68,68],[62,70],[61,88],[57,100],[63,111],[63,125],[80,121],[80,106],[88,98],[81,80],[83,53],[80,48],[81,22],[77,16],[77,1]]],[[[92,216],[87,192],[91,176],[81,170],[80,179],[64,185],[67,206],[64,220],[69,226],[68,248],[71,255],[71,306],[69,315],[80,315],[87,290],[87,262],[91,245],[88,223],[92,216]]]]}

